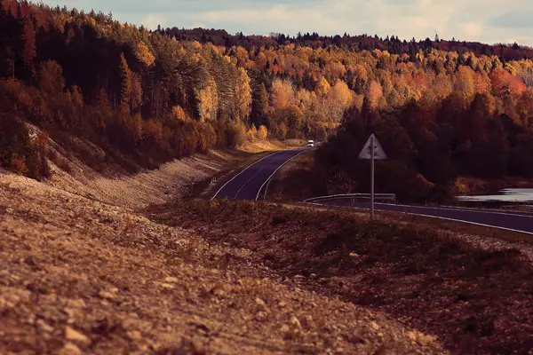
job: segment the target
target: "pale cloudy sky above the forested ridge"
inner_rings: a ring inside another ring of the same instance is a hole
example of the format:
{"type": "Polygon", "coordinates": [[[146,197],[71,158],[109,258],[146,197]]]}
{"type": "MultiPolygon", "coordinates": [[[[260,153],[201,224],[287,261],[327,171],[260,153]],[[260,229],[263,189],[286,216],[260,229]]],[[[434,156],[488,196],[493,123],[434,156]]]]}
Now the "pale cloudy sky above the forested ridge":
{"type": "Polygon", "coordinates": [[[531,0],[44,0],[146,28],[386,35],[533,46],[531,0]]]}

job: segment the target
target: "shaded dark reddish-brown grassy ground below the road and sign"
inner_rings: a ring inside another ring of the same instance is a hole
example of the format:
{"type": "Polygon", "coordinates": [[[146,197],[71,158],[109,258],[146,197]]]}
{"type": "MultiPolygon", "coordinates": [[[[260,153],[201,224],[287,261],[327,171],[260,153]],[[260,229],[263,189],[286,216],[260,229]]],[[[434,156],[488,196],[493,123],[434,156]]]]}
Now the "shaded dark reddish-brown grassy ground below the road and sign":
{"type": "Polygon", "coordinates": [[[513,248],[475,248],[452,225],[235,201],[179,201],[148,216],[253,250],[281,275],[303,275],[303,287],[407,319],[452,352],[527,353],[532,345],[531,264],[513,248]]]}

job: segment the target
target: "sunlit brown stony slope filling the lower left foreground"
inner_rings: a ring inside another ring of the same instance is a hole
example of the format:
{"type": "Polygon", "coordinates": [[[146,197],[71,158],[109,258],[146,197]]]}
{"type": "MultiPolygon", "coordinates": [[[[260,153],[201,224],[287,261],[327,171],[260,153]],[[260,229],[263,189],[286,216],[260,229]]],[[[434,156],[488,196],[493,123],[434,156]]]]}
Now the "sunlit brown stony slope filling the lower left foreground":
{"type": "Polygon", "coordinates": [[[446,352],[131,208],[0,171],[0,353],[446,352]]]}

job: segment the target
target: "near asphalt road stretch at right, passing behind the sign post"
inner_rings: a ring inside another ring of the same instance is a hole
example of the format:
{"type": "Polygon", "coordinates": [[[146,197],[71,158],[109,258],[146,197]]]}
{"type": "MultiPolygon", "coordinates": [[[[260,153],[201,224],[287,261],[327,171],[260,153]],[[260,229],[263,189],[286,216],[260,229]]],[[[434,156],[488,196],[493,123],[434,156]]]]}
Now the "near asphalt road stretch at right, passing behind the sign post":
{"type": "MultiPolygon", "coordinates": [[[[320,204],[370,209],[370,203],[350,201],[321,201],[320,204]]],[[[457,222],[486,225],[521,233],[533,234],[533,213],[493,209],[464,209],[458,207],[423,207],[375,203],[374,209],[403,212],[412,215],[439,217],[457,222]]]]}

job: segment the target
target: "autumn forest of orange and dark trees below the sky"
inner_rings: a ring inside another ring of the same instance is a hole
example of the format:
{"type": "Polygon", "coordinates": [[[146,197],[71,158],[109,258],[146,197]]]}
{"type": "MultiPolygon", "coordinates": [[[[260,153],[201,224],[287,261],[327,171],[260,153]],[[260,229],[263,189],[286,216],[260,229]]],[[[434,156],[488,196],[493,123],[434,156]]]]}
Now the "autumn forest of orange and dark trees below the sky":
{"type": "Polygon", "coordinates": [[[0,165],[28,177],[49,176],[51,139],[137,171],[314,138],[327,140],[314,192],[354,191],[370,132],[391,158],[378,185],[417,186],[406,200],[440,199],[459,176],[533,177],[533,50],[517,43],[148,30],[14,0],[0,0],[0,33],[0,165]]]}

